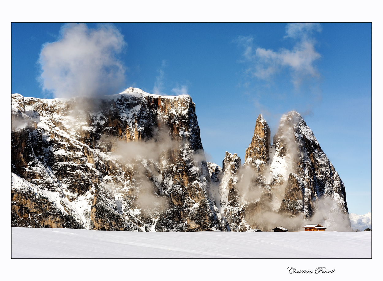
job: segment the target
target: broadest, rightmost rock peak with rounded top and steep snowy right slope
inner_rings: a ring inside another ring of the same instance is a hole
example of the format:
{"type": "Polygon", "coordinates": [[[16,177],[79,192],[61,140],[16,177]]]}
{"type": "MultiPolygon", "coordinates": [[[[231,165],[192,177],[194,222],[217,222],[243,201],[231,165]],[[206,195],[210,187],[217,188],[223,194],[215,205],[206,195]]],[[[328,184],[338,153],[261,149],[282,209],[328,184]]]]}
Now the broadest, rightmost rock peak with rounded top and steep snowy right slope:
{"type": "Polygon", "coordinates": [[[316,208],[314,201],[325,197],[336,200],[339,206],[336,211],[348,217],[344,184],[301,115],[292,111],[284,116],[274,139],[277,143],[290,141],[292,145],[285,146],[288,153],[294,154],[280,212],[290,215],[302,212],[311,217],[316,208]]]}

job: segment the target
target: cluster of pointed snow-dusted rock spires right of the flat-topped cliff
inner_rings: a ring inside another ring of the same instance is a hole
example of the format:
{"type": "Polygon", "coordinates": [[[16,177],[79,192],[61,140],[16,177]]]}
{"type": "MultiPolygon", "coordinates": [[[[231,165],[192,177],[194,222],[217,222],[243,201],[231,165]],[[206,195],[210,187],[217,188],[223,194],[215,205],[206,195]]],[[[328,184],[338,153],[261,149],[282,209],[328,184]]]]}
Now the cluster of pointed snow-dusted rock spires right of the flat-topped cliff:
{"type": "Polygon", "coordinates": [[[221,175],[214,177],[218,216],[231,231],[278,225],[298,231],[308,223],[350,230],[344,184],[298,112],[283,115],[273,145],[259,115],[243,167],[237,154],[226,152],[221,175]]]}

